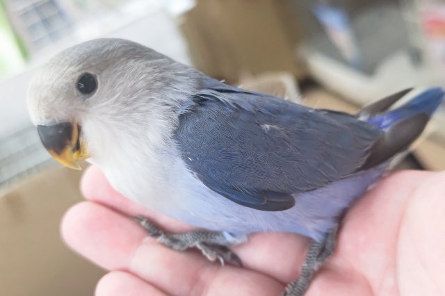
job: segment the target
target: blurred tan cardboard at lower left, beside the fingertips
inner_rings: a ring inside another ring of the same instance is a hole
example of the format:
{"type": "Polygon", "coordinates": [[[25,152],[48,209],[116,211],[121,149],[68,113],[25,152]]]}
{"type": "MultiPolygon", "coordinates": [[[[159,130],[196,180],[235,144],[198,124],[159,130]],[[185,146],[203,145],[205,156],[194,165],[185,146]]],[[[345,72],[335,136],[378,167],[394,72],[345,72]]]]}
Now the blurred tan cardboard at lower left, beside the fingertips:
{"type": "Polygon", "coordinates": [[[3,296],[93,295],[105,271],[60,238],[60,220],[82,200],[81,172],[44,171],[0,195],[0,290],[3,296]]]}

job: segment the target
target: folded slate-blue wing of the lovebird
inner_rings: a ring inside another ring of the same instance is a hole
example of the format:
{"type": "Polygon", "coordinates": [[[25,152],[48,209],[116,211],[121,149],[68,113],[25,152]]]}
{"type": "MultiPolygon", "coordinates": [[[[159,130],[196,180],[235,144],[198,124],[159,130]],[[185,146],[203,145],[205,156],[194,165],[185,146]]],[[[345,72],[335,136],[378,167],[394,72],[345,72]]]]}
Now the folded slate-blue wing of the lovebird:
{"type": "Polygon", "coordinates": [[[356,172],[382,131],[346,113],[313,110],[213,81],[179,117],[189,170],[232,201],[283,211],[291,196],[356,172]]]}

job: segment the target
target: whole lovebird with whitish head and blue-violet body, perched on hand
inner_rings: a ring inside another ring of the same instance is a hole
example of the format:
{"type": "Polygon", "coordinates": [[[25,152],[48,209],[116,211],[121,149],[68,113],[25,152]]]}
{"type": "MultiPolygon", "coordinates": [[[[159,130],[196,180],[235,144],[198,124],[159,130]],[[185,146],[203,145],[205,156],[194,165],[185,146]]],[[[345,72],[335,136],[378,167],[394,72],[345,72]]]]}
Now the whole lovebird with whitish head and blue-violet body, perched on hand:
{"type": "Polygon", "coordinates": [[[229,247],[250,233],[311,238],[302,275],[283,292],[301,296],[334,251],[344,213],[444,99],[430,88],[389,110],[409,91],[354,115],[314,109],[211,79],[136,42],[96,39],[38,69],[27,103],[57,161],[79,168],[86,159],[125,197],[200,229],[165,233],[135,217],[160,243],[241,265],[229,247]]]}

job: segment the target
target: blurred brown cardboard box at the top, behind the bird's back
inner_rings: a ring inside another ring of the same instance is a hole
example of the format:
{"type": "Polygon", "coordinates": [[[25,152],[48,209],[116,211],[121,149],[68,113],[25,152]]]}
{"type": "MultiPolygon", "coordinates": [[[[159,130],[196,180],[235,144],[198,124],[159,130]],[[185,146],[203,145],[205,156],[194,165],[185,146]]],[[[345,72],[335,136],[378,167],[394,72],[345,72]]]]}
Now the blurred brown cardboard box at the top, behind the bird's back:
{"type": "Polygon", "coordinates": [[[270,70],[306,75],[297,60],[301,34],[293,1],[198,0],[179,17],[194,66],[216,79],[270,70]]]}

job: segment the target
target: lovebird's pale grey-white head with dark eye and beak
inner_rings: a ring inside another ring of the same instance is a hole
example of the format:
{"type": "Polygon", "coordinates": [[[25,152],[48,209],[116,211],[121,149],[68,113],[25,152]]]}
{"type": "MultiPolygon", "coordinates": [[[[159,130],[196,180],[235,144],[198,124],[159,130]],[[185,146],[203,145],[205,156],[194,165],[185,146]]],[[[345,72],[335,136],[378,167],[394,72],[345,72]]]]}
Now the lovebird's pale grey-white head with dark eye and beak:
{"type": "Polygon", "coordinates": [[[118,134],[162,142],[195,88],[196,73],[135,42],[91,40],[38,69],[29,112],[51,156],[79,169],[78,161],[122,144],[118,134]]]}

